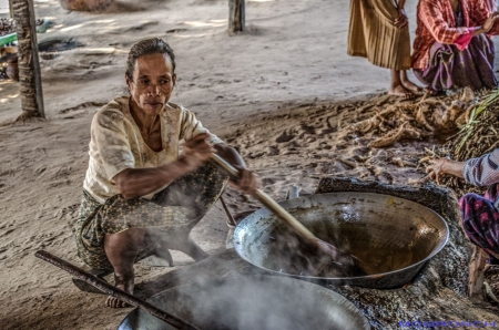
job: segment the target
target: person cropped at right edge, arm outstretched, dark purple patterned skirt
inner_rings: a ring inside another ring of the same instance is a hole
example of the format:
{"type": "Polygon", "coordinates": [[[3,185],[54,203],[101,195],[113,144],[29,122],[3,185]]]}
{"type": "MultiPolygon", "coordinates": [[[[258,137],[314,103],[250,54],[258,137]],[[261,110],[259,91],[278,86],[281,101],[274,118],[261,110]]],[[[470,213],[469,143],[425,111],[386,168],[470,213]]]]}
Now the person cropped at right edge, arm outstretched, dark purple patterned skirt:
{"type": "Polygon", "coordinates": [[[444,174],[451,174],[469,184],[488,187],[485,196],[472,193],[462,196],[459,208],[466,236],[489,254],[488,264],[499,265],[499,148],[466,162],[432,159],[426,172],[437,183],[444,174]]]}

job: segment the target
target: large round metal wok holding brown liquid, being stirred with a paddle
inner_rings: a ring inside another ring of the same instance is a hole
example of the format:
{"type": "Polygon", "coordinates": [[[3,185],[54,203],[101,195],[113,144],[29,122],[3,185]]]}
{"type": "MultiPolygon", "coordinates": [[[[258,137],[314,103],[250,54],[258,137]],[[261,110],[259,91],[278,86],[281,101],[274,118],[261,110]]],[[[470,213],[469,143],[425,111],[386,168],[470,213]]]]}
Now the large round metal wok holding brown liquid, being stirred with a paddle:
{"type": "Polygon", "coordinates": [[[309,276],[296,235],[267,209],[247,216],[234,230],[234,247],[267,271],[320,283],[396,288],[410,282],[447,243],[446,221],[431,209],[374,193],[328,193],[279,203],[319,239],[359,262],[348,277],[309,276]]]}

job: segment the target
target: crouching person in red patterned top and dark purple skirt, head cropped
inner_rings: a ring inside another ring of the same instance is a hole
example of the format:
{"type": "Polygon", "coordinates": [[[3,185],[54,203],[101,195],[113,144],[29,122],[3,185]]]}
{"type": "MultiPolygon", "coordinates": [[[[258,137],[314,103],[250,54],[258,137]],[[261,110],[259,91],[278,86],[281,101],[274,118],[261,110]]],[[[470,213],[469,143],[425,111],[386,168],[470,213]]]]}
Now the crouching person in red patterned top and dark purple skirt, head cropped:
{"type": "Polygon", "coordinates": [[[497,16],[485,0],[419,0],[411,65],[430,94],[496,87],[497,16]]]}

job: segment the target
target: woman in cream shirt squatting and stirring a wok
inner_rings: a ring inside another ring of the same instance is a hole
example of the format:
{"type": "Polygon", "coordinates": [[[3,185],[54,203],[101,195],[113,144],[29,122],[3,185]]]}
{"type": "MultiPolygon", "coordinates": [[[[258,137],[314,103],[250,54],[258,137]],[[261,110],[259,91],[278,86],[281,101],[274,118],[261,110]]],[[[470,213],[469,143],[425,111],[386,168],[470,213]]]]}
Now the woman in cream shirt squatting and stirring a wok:
{"type": "MultiPolygon", "coordinates": [[[[176,74],[167,43],[135,43],[125,80],[130,96],[111,101],[92,121],[75,237],[81,259],[113,270],[116,287],[132,293],[133,264],[145,245],[180,249],[195,260],[207,256],[189,234],[228,179],[206,163],[213,152],[240,169],[241,177],[232,182],[236,187],[251,194],[256,184],[232,147],[189,110],[169,102],[176,74]]],[[[106,305],[124,307],[113,297],[106,305]]]]}

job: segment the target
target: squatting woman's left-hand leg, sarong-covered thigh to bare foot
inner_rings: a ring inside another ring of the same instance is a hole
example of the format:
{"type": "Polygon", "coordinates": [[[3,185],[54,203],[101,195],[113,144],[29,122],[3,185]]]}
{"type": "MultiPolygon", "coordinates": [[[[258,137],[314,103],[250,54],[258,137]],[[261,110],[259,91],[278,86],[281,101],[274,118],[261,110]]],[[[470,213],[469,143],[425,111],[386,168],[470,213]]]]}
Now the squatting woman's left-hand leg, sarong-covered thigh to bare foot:
{"type": "MultiPolygon", "coordinates": [[[[98,269],[114,272],[115,286],[133,292],[133,264],[145,247],[147,228],[185,227],[189,220],[183,207],[164,207],[142,198],[113,196],[99,206],[89,219],[77,226],[77,244],[82,260],[98,269]]],[[[121,300],[108,297],[109,307],[125,307],[121,300]]]]}

